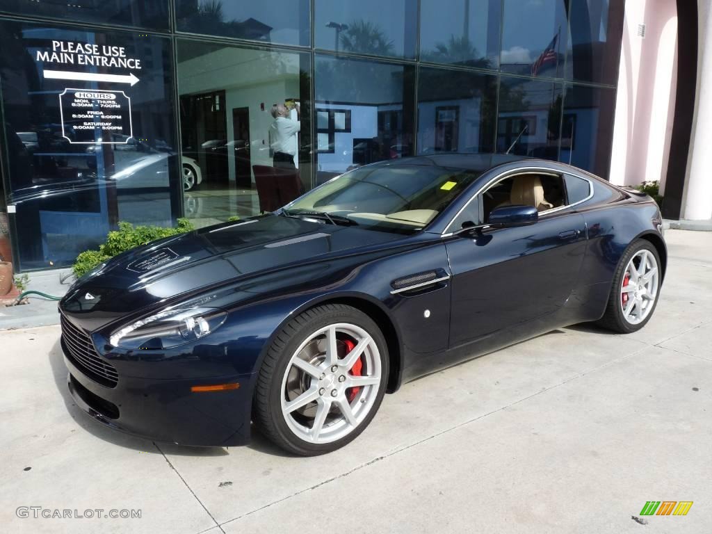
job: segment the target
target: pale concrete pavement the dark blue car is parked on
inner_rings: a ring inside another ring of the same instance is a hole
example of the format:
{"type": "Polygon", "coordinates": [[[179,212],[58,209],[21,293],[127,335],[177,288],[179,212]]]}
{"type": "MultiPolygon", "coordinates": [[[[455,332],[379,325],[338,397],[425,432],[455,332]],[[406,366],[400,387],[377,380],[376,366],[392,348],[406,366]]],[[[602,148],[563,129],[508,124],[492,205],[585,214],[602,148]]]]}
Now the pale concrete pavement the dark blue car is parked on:
{"type": "Polygon", "coordinates": [[[108,431],[68,396],[58,327],[1,332],[1,530],[711,532],[712,233],[667,238],[641,332],[565,328],[406,384],[359,439],[311,459],[259,438],[187,449],[108,431]],[[694,504],[642,516],[646,501],[694,504]]]}

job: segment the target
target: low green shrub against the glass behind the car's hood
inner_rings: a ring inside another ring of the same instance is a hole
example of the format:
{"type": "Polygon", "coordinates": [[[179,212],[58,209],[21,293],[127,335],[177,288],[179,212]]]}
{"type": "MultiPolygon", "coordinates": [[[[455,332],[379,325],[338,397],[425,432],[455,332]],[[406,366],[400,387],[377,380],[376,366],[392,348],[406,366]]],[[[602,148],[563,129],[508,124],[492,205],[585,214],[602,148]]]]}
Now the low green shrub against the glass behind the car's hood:
{"type": "Polygon", "coordinates": [[[195,227],[188,219],[178,219],[175,228],[165,228],[164,226],[134,226],[125,221],[119,222],[119,229],[110,231],[106,236],[106,242],[99,246],[98,251],[85,251],[77,256],[72,266],[74,275],[77,278],[84,276],[100,263],[107,261],[113,256],[117,256],[125,251],[129,251],[137,246],[145,245],[156,239],[176,236],[194,230],[195,227]]]}

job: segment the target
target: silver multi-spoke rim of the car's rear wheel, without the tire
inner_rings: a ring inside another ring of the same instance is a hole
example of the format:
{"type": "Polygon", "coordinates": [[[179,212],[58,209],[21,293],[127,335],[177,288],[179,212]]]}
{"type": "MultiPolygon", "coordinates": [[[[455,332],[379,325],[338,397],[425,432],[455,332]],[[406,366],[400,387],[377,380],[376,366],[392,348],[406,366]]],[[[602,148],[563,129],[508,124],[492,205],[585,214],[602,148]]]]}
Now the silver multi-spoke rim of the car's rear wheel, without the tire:
{"type": "Polygon", "coordinates": [[[658,295],[658,262],[650,251],[634,254],[623,274],[620,306],[623,318],[631,325],[642,323],[650,315],[658,295]]]}

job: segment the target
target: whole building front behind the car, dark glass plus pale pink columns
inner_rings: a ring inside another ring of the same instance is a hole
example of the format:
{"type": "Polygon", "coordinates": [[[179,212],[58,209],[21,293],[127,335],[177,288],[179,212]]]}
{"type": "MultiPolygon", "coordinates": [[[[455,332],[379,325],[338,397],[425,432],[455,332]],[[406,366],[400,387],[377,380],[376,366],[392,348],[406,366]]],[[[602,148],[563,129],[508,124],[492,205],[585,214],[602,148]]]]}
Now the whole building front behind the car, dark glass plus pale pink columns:
{"type": "Polygon", "coordinates": [[[705,54],[697,63],[703,2],[699,14],[671,0],[31,4],[0,7],[0,212],[19,271],[71,263],[119,220],[250,216],[276,191],[436,152],[511,150],[619,184],[661,179],[668,216],[712,216],[709,151],[688,150],[710,122],[696,97],[712,71],[705,54]],[[41,65],[52,41],[120,46],[142,69],[41,65]],[[50,80],[47,68],[139,81],[50,80]],[[135,139],[62,137],[57,95],[72,87],[124,90],[135,139]],[[295,169],[273,177],[270,110],[294,102],[295,169]]]}

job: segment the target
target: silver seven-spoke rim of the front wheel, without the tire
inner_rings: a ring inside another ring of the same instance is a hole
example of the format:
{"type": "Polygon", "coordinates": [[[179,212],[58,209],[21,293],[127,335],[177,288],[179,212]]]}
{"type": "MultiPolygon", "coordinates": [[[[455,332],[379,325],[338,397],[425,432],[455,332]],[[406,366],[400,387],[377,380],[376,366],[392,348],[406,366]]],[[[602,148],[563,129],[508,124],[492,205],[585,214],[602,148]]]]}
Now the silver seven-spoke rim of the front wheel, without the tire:
{"type": "Polygon", "coordinates": [[[337,441],[367,417],[380,382],[381,357],[373,337],[350,323],[325,326],[310,335],[289,360],[281,387],[283,417],[304,441],[337,441]],[[360,376],[352,375],[359,361],[360,376]]]}

